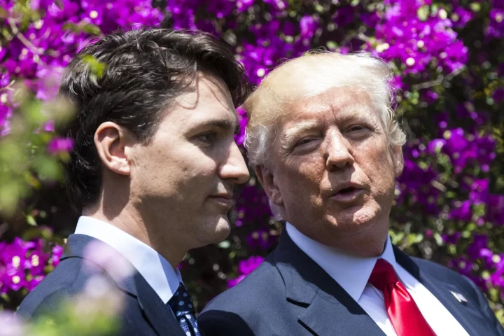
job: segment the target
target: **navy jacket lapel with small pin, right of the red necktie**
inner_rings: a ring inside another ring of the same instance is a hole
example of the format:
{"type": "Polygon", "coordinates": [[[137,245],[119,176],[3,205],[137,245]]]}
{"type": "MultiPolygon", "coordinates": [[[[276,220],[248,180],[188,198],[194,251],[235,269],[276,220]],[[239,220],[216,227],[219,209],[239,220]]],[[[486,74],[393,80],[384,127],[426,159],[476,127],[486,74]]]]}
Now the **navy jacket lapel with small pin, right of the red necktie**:
{"type": "Polygon", "coordinates": [[[404,267],[409,274],[412,274],[412,276],[420,281],[421,284],[444,305],[450,314],[454,316],[469,335],[482,335],[482,330],[475,329],[478,326],[480,327],[486,324],[484,321],[482,321],[481,324],[475,323],[475,319],[481,317],[481,314],[479,314],[479,307],[474,307],[472,302],[460,302],[451,293],[460,293],[460,288],[450,283],[439,281],[435,279],[434,276],[422,272],[412,258],[395,246],[394,253],[395,259],[398,261],[399,265],[404,267]]]}

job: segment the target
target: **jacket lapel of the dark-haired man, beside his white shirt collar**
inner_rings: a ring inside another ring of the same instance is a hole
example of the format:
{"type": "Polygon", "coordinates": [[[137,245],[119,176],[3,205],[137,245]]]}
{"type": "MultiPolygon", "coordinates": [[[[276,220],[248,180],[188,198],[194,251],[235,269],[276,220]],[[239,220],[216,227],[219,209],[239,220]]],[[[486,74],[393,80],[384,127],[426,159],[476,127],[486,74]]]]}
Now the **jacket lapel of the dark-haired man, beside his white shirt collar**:
{"type": "MultiPolygon", "coordinates": [[[[86,235],[70,235],[66,241],[61,260],[66,258],[88,259],[89,255],[86,255],[85,248],[92,241],[97,241],[97,239],[86,235]]],[[[97,261],[99,262],[99,260],[97,261]]],[[[125,261],[128,262],[127,260],[125,261]]],[[[133,266],[131,267],[134,269],[133,266]]],[[[151,323],[158,335],[186,336],[172,311],[162,302],[158,294],[155,293],[155,290],[153,290],[146,279],[136,269],[132,276],[120,281],[114,279],[114,281],[116,281],[120,289],[137,297],[146,319],[151,323]]]]}

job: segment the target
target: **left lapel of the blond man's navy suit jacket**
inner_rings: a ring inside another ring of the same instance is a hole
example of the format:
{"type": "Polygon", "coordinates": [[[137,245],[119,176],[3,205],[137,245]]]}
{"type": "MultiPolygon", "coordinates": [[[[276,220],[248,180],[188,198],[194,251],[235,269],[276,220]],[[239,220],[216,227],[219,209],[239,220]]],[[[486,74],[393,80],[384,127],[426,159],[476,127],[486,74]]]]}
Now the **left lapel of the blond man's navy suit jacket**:
{"type": "Polygon", "coordinates": [[[297,322],[314,335],[384,335],[360,305],[294,244],[286,230],[274,262],[286,286],[286,300],[306,307],[297,322]]]}

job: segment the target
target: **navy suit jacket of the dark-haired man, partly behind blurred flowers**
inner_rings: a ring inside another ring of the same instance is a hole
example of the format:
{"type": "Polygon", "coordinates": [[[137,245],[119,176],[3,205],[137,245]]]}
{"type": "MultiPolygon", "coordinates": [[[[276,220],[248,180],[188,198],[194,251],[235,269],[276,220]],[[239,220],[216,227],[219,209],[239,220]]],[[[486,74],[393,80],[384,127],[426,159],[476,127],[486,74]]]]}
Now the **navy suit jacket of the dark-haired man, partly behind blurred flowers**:
{"type": "MultiPolygon", "coordinates": [[[[62,296],[80,293],[91,275],[83,267],[85,246],[94,240],[86,235],[71,235],[59,265],[23,300],[18,314],[36,318],[48,311],[54,313],[62,296]]],[[[138,272],[120,282],[114,281],[105,269],[103,272],[113,286],[125,293],[121,328],[115,335],[185,336],[172,311],[138,272]]]]}

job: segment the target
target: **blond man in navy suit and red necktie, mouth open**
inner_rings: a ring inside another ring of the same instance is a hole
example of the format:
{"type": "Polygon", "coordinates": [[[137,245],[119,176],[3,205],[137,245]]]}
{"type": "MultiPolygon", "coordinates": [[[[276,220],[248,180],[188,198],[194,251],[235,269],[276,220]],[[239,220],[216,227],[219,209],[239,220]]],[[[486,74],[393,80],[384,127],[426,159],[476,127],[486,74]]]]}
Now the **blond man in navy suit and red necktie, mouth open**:
{"type": "Polygon", "coordinates": [[[207,336],[504,335],[472,281],[391,244],[405,134],[390,78],[364,53],[310,53],[246,100],[249,162],[286,225],[200,314],[207,336]]]}

